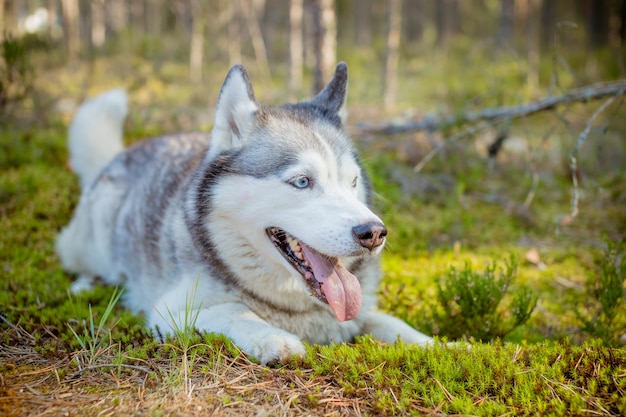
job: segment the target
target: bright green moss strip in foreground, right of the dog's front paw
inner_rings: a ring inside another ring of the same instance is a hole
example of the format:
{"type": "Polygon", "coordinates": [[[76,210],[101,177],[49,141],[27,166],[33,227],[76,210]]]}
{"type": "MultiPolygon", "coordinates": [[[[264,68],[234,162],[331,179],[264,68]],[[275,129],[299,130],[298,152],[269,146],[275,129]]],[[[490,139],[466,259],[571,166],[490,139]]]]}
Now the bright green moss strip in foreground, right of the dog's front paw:
{"type": "Polygon", "coordinates": [[[361,338],[356,347],[313,346],[305,366],[334,375],[348,396],[367,396],[389,415],[439,409],[449,414],[584,413],[590,405],[623,412],[626,352],[597,343],[474,344],[428,349],[361,338]],[[595,370],[590,367],[594,364],[595,370]],[[330,373],[332,371],[332,373],[330,373]],[[598,377],[599,375],[604,377],[598,377]],[[612,378],[617,378],[612,380],[612,378]],[[572,389],[576,386],[576,389],[572,389]],[[606,398],[594,403],[591,398],[606,398]]]}

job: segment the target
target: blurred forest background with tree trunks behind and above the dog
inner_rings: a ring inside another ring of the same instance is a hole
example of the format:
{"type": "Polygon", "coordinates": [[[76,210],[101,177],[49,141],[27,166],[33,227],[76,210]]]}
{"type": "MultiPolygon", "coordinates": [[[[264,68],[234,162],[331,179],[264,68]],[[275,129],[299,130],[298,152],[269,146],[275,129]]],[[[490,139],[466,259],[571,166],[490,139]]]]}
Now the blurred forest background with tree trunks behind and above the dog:
{"type": "MultiPolygon", "coordinates": [[[[122,86],[148,130],[209,128],[231,65],[277,104],[319,91],[346,61],[355,132],[421,132],[394,142],[418,170],[450,136],[477,139],[487,156],[507,145],[527,157],[532,137],[549,139],[550,162],[562,164],[563,135],[593,114],[575,104],[621,97],[621,83],[606,83],[626,74],[626,0],[0,0],[0,34],[0,120],[18,108],[27,124],[67,119],[80,100],[122,86]],[[520,118],[557,105],[567,106],[561,130],[513,134],[520,118]],[[391,123],[372,123],[382,120],[391,123]]],[[[611,107],[612,122],[623,119],[611,107]]],[[[609,142],[615,166],[622,141],[609,142]]]]}

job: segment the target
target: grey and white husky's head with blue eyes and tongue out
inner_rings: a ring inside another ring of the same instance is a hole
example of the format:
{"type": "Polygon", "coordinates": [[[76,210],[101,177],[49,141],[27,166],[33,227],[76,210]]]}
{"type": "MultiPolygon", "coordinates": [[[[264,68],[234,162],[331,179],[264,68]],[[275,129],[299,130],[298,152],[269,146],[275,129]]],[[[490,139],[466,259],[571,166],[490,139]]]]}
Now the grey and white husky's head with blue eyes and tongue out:
{"type": "Polygon", "coordinates": [[[355,318],[362,301],[343,263],[377,255],[387,234],[368,208],[369,181],[343,130],[347,79],[340,63],[313,99],[266,107],[244,68],[233,67],[205,159],[211,234],[228,225],[237,236],[216,245],[220,256],[248,253],[248,262],[289,271],[339,321],[355,318]]]}

